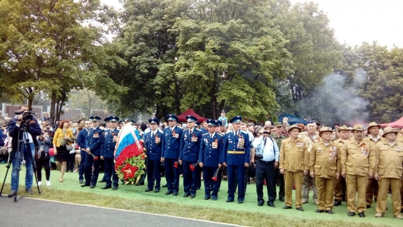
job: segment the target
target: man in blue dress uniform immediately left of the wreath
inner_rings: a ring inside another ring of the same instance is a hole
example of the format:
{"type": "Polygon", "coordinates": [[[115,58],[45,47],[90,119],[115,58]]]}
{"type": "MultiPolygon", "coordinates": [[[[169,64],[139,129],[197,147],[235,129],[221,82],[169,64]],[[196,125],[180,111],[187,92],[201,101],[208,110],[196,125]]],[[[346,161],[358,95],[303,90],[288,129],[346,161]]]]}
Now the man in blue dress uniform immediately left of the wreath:
{"type": "Polygon", "coordinates": [[[104,179],[106,185],[101,189],[112,188],[112,190],[116,190],[119,185],[119,177],[116,175],[115,163],[113,161],[115,158],[117,135],[119,134],[119,130],[116,128],[119,118],[110,116],[106,118],[106,121],[109,122],[109,129],[104,130],[104,139],[101,146],[101,159],[104,160],[105,164],[104,179]]]}

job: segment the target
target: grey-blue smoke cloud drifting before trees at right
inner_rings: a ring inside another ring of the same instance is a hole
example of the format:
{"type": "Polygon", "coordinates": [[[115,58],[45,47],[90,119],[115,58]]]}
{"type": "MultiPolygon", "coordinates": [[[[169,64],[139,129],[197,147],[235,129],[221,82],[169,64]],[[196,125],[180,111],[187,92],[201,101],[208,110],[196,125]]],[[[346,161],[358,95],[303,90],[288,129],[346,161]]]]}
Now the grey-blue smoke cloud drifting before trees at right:
{"type": "Polygon", "coordinates": [[[359,94],[366,79],[367,73],[362,69],[350,78],[338,73],[327,75],[324,84],[298,104],[300,115],[310,116],[327,126],[333,123],[349,126],[365,123],[369,117],[369,102],[359,94]]]}

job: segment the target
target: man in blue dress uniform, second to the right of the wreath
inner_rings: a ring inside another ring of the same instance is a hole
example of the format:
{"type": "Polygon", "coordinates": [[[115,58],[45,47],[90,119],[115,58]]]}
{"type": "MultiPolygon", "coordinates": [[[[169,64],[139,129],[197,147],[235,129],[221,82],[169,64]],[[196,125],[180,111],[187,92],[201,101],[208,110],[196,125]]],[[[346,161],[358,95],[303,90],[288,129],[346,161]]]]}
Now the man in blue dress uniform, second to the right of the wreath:
{"type": "Polygon", "coordinates": [[[168,191],[165,195],[173,193],[174,196],[177,196],[179,191],[179,169],[175,168],[174,165],[178,162],[179,158],[182,128],[176,126],[176,122],[179,121],[176,115],[168,114],[167,119],[168,127],[164,128],[161,154],[161,161],[164,161],[165,177],[168,185],[168,191]]]}

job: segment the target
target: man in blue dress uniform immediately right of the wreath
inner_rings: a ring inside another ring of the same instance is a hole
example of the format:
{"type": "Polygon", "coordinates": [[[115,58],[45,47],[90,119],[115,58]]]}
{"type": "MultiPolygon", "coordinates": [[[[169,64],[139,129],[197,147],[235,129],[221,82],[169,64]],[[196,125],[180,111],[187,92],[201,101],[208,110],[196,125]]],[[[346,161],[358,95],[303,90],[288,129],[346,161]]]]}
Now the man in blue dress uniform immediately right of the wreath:
{"type": "Polygon", "coordinates": [[[161,153],[162,153],[162,139],[164,134],[160,132],[157,127],[160,121],[156,117],[148,120],[150,131],[146,133],[144,144],[147,149],[147,181],[148,186],[146,192],[153,190],[154,179],[156,181],[154,192],[160,192],[161,189],[161,153]]]}

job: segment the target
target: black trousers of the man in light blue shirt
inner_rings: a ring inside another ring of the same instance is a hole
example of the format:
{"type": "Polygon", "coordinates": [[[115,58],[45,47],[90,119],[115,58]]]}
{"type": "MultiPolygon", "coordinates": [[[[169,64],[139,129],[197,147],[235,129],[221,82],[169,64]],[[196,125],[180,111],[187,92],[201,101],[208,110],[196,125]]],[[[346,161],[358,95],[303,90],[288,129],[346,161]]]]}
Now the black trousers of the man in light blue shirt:
{"type": "Polygon", "coordinates": [[[257,160],[256,162],[256,194],[257,202],[264,202],[263,199],[263,180],[266,179],[268,202],[276,200],[276,176],[274,163],[257,160]]]}

